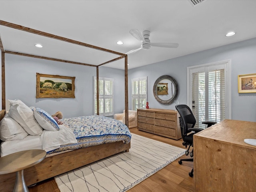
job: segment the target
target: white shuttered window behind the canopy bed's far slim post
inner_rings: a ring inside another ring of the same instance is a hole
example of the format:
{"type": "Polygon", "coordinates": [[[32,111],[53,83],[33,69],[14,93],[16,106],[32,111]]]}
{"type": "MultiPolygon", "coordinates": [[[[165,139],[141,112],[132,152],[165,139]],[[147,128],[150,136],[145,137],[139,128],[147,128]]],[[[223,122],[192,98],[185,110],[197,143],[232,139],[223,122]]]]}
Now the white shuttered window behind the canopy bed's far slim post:
{"type": "MultiPolygon", "coordinates": [[[[99,111],[101,116],[112,116],[113,79],[99,77],[99,111]]],[[[94,114],[97,114],[97,78],[94,76],[94,114]]]]}

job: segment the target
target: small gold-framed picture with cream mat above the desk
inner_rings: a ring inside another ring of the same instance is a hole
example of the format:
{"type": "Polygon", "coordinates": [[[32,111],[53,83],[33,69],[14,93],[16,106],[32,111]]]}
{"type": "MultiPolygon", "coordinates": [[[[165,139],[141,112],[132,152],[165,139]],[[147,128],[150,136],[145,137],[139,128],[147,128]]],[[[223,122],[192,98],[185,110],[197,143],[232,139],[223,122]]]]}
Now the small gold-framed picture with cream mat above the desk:
{"type": "Polygon", "coordinates": [[[256,93],[256,74],[238,75],[238,93],[256,93]]]}

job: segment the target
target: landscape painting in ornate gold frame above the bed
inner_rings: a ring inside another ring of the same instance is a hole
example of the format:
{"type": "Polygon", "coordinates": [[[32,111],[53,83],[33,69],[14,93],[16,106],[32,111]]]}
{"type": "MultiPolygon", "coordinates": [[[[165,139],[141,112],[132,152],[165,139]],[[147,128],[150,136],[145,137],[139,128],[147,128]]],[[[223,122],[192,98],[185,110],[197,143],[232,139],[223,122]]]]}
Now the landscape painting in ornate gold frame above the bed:
{"type": "Polygon", "coordinates": [[[75,77],[36,73],[36,98],[75,98],[75,77]]]}

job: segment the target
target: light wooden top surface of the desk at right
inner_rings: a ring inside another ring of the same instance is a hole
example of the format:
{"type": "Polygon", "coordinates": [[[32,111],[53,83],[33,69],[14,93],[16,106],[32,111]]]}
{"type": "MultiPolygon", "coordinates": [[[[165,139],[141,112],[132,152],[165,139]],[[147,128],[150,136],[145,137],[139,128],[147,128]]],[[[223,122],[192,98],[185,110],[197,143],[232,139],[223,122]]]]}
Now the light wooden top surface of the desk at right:
{"type": "Polygon", "coordinates": [[[246,144],[244,139],[256,139],[256,122],[226,119],[194,136],[255,149],[256,146],[246,144]]]}

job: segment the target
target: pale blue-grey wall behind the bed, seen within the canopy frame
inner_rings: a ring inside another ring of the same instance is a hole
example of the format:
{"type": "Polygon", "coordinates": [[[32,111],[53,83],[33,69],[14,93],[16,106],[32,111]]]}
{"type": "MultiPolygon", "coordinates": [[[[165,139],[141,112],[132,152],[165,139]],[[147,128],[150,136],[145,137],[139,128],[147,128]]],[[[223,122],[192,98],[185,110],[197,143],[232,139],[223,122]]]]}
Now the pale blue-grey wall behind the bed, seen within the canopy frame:
{"type": "MultiPolygon", "coordinates": [[[[61,111],[64,118],[93,114],[93,76],[96,76],[96,67],[5,54],[5,72],[6,100],[20,99],[26,105],[42,108],[50,114],[61,111]],[[76,77],[76,98],[36,99],[36,73],[76,77]]],[[[124,78],[120,79],[123,70],[100,67],[99,74],[114,78],[114,86],[124,85],[124,78]]],[[[114,103],[116,113],[123,110],[119,103],[124,106],[124,93],[120,94],[116,87],[114,91],[118,101],[118,104],[114,103]]]]}

